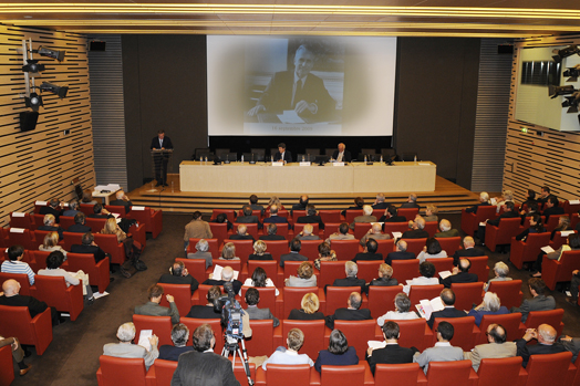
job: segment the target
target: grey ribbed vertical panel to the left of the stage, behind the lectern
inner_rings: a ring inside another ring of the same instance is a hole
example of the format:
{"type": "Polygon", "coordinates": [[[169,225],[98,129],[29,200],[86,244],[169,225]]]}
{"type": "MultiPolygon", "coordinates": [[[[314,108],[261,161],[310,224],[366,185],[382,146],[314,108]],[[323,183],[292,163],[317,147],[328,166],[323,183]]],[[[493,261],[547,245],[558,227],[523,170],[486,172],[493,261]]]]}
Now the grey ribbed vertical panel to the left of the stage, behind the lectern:
{"type": "Polygon", "coordinates": [[[96,184],[118,184],[126,189],[121,35],[90,35],[89,40],[106,42],[106,51],[89,52],[96,184]]]}

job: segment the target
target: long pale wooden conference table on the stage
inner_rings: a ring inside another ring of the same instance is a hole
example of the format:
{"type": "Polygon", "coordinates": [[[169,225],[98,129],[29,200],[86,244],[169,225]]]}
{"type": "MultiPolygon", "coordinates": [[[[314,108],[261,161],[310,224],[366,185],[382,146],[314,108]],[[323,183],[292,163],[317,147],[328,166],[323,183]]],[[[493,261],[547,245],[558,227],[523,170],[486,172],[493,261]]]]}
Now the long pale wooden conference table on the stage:
{"type": "Polygon", "coordinates": [[[298,163],[179,165],[182,191],[248,194],[369,194],[434,191],[437,166],[431,161],[300,166],[298,163]]]}

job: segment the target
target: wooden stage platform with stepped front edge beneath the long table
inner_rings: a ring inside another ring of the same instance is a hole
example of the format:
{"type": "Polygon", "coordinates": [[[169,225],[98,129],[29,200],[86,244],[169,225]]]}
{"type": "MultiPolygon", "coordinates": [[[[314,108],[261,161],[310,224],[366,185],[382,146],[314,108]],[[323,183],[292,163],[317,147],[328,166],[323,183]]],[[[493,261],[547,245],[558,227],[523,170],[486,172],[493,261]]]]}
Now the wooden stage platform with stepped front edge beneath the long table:
{"type": "MultiPolygon", "coordinates": [[[[133,204],[179,213],[190,213],[195,210],[208,213],[211,212],[211,209],[240,209],[241,206],[248,204],[249,195],[247,192],[186,192],[179,189],[178,174],[169,174],[167,178],[169,186],[166,188],[155,187],[152,189],[152,184],[146,184],[138,189],[130,191],[128,196],[133,204]]],[[[227,184],[227,181],[224,181],[224,184],[227,184]]],[[[406,201],[410,192],[385,194],[385,201],[400,206],[406,201]]],[[[436,177],[435,191],[413,192],[417,194],[417,202],[423,208],[427,204],[433,204],[438,208],[439,212],[459,212],[462,209],[479,202],[477,194],[439,176],[436,177]]],[[[256,187],[255,194],[259,198],[259,205],[266,206],[271,196],[278,196],[282,205],[288,209],[298,202],[300,196],[296,192],[288,194],[283,191],[266,195],[260,192],[259,187],[256,187]]],[[[365,202],[372,205],[376,194],[377,191],[366,194],[329,192],[309,194],[309,197],[310,202],[315,205],[317,209],[344,209],[352,206],[354,198],[359,196],[363,197],[365,202]]]]}

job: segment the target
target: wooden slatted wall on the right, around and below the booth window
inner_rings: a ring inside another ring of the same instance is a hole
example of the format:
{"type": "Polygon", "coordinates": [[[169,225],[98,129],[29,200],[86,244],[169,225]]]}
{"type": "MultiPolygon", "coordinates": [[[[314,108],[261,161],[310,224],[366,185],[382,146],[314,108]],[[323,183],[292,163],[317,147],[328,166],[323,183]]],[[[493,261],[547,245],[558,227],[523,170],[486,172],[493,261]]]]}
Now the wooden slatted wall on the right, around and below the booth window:
{"type": "Polygon", "coordinates": [[[515,119],[518,51],[525,46],[568,44],[580,44],[580,34],[522,40],[515,46],[504,189],[514,190],[518,201],[525,200],[527,189],[539,192],[543,185],[549,186],[561,200],[580,198],[580,132],[559,132],[515,119]],[[522,128],[527,128],[528,133],[524,133],[522,128]]]}

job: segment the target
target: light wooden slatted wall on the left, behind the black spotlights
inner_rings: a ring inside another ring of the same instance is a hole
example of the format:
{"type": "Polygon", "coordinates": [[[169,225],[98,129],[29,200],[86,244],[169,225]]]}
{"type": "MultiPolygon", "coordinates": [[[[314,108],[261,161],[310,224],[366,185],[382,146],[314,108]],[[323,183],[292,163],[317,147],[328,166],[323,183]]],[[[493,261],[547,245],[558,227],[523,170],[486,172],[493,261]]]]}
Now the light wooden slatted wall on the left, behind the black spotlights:
{"type": "Polygon", "coordinates": [[[83,35],[0,24],[0,226],[9,223],[11,211],[31,211],[37,199],[70,200],[74,177],[83,188],[94,186],[87,66],[83,35]],[[37,86],[48,81],[70,88],[64,100],[42,93],[37,128],[22,133],[19,113],[28,108],[19,97],[24,74],[17,49],[29,38],[33,49],[42,44],[66,51],[61,63],[34,54],[46,66],[37,86]],[[65,129],[69,135],[63,135],[65,129]]]}

